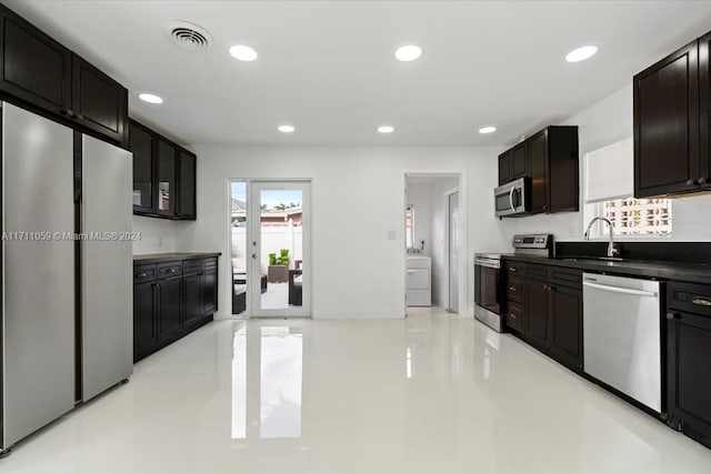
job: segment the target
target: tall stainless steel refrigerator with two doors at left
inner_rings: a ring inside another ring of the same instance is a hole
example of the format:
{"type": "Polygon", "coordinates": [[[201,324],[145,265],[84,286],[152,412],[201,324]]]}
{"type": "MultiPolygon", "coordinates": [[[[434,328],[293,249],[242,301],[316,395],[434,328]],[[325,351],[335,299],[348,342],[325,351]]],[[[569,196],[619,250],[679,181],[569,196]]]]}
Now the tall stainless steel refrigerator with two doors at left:
{"type": "Polygon", "coordinates": [[[132,160],[0,107],[3,454],[132,372],[132,160]]]}

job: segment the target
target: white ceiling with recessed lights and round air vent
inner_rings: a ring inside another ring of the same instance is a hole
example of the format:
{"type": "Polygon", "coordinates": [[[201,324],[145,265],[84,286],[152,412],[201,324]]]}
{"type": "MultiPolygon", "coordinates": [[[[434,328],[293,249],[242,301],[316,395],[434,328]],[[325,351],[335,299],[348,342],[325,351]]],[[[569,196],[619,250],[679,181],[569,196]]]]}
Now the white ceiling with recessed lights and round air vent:
{"type": "Polygon", "coordinates": [[[6,1],[186,144],[503,144],[630,83],[711,26],[711,1],[6,1]],[[171,20],[206,28],[190,52],[171,20]],[[259,59],[228,49],[249,44],[259,59]],[[414,62],[394,49],[420,44],[414,62]],[[600,51],[567,63],[571,49],[600,51]],[[140,102],[151,91],[162,105],[140,102]],[[297,132],[276,129],[291,123],[297,132]],[[380,124],[395,132],[375,132],[380,124]],[[480,135],[480,127],[498,132],[480,135]]]}

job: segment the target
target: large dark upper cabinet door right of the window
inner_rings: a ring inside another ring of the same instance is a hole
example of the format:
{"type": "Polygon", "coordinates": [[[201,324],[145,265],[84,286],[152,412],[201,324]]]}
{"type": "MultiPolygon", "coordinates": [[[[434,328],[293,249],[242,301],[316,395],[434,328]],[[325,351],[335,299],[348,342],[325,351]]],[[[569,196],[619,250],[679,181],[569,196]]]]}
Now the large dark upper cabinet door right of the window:
{"type": "Polygon", "coordinates": [[[634,196],[698,191],[699,41],[634,75],[633,97],[634,196]]]}

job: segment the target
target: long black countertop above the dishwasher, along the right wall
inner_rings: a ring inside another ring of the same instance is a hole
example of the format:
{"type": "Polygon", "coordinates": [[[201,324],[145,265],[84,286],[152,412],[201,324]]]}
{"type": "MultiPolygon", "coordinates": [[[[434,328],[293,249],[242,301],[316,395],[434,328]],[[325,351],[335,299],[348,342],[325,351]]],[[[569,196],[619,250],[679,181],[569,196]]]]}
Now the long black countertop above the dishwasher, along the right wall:
{"type": "Polygon", "coordinates": [[[543,258],[530,255],[501,255],[503,259],[527,263],[564,266],[597,273],[644,276],[658,280],[674,280],[690,283],[711,284],[711,265],[694,263],[675,263],[649,260],[605,261],[590,258],[543,258]]]}

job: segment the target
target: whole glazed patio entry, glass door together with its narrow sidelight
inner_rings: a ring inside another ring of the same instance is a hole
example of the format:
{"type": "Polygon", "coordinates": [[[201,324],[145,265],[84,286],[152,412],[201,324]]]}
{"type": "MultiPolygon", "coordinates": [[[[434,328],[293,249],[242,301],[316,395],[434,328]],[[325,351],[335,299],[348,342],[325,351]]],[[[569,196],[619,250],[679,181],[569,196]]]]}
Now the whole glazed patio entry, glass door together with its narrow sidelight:
{"type": "Polygon", "coordinates": [[[231,180],[232,314],[310,316],[311,183],[231,180]]]}

